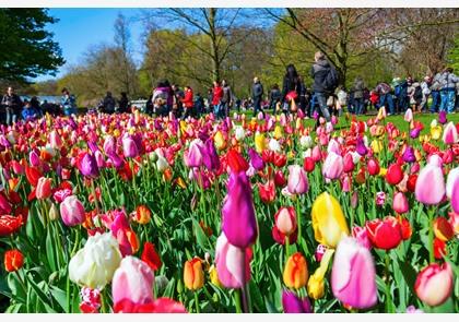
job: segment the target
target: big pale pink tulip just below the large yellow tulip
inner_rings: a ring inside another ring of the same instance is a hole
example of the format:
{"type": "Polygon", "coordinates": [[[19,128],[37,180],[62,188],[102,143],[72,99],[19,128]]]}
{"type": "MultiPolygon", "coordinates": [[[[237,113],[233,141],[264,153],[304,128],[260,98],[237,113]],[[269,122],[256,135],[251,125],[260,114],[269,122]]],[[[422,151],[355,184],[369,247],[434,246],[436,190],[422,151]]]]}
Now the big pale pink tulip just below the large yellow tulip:
{"type": "Polygon", "coordinates": [[[369,250],[352,237],[338,245],[331,271],[331,288],[336,298],[356,309],[376,305],[376,272],[369,250]]]}

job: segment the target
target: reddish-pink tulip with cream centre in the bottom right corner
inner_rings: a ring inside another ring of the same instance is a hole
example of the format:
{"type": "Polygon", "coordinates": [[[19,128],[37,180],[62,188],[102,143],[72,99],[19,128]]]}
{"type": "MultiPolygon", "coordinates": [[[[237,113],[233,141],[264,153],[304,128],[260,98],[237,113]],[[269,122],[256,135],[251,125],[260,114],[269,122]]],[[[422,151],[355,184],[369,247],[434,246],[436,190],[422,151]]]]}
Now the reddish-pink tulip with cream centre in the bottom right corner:
{"type": "Polygon", "coordinates": [[[452,293],[454,279],[451,266],[448,263],[429,264],[417,275],[414,290],[417,297],[427,306],[443,305],[452,293]]]}

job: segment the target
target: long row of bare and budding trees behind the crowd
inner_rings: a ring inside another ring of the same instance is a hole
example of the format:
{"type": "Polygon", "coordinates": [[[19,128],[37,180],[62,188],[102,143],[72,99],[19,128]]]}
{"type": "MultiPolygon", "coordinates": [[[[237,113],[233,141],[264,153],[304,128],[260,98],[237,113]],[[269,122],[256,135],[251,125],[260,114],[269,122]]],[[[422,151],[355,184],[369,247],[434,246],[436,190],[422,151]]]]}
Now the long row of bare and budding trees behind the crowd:
{"type": "Polygon", "coordinates": [[[422,77],[458,63],[458,9],[157,9],[144,22],[143,59],[132,59],[130,22],[119,15],[111,45],[95,45],[84,62],[38,94],[69,87],[80,104],[107,91],[148,97],[162,79],[190,85],[205,96],[225,79],[238,96],[259,76],[266,88],[281,85],[289,63],[310,84],[314,52],[334,64],[340,83],[361,75],[369,86],[395,76],[422,77]]]}

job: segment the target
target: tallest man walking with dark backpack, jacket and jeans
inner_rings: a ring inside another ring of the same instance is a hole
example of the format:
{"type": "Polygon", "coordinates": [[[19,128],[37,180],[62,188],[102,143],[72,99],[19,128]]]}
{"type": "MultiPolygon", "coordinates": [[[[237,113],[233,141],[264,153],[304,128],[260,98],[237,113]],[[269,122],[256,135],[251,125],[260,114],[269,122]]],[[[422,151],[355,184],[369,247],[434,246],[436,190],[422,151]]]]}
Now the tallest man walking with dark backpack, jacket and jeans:
{"type": "MultiPolygon", "coordinates": [[[[326,60],[323,52],[317,51],[314,56],[315,63],[310,68],[310,76],[314,79],[313,91],[319,104],[320,114],[330,121],[330,111],[327,107],[327,98],[338,86],[338,75],[334,68],[326,60]]],[[[319,120],[317,120],[319,121],[319,120]]],[[[318,124],[318,123],[317,123],[318,124]]]]}

